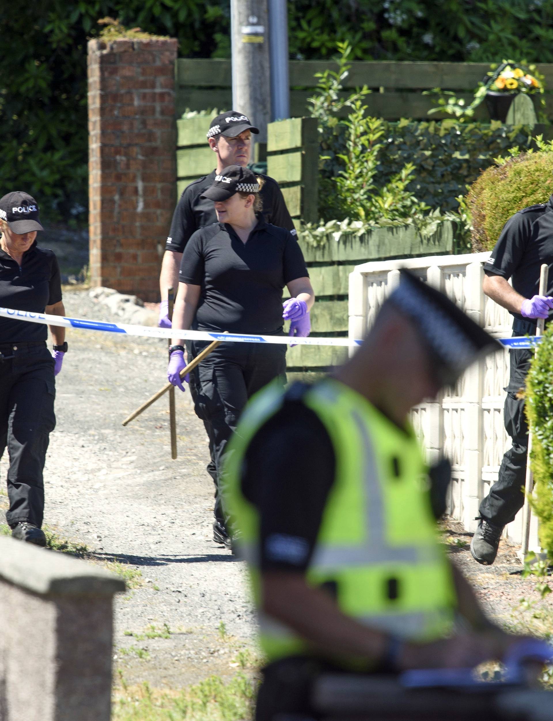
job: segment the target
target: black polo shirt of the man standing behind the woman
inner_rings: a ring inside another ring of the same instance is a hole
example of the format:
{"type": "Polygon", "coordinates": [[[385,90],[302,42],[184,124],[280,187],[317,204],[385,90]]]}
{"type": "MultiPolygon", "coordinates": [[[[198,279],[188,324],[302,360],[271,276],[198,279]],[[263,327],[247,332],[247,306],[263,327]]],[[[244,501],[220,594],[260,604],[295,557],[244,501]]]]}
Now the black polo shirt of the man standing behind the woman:
{"type": "MultiPolygon", "coordinates": [[[[266,223],[285,228],[295,234],[294,224],[292,218],[290,218],[286,203],[284,203],[279,184],[268,175],[259,175],[259,177],[265,181],[261,188],[264,220],[266,223]]],[[[165,246],[166,250],[177,253],[183,252],[186,243],[195,231],[217,223],[217,213],[215,213],[213,201],[199,197],[204,190],[213,185],[214,180],[215,170],[209,175],[204,175],[199,180],[191,182],[190,185],[184,188],[173,214],[171,230],[165,246]]]]}

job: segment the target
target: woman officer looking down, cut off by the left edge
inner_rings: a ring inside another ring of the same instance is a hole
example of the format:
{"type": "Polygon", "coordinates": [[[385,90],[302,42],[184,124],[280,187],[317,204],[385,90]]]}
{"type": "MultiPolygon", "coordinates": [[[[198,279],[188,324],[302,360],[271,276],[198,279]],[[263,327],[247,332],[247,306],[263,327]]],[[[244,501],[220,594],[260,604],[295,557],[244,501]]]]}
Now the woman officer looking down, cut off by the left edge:
{"type": "MultiPolygon", "coordinates": [[[[37,201],[27,193],[0,199],[0,306],[65,315],[60,269],[51,250],[37,246],[43,230],[37,201]]],[[[0,457],[9,453],[6,521],[12,536],[45,546],[44,469],[48,436],[55,426],[55,381],[67,351],[65,329],[0,319],[0,457]]]]}

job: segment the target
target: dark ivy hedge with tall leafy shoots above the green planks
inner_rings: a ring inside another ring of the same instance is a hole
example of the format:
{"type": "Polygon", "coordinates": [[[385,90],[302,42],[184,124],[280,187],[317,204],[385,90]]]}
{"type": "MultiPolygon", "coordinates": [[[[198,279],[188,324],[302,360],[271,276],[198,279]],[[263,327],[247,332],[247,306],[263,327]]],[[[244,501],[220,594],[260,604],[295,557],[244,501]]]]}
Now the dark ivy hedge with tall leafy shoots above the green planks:
{"type": "Polygon", "coordinates": [[[338,43],[338,69],[318,74],[310,110],[320,133],[319,213],[324,222],[405,222],[413,216],[459,208],[495,156],[531,145],[529,128],[501,123],[389,123],[364,115],[364,87],[343,97],[352,48],[338,43]],[[350,111],[345,120],[338,113],[350,111]]]}

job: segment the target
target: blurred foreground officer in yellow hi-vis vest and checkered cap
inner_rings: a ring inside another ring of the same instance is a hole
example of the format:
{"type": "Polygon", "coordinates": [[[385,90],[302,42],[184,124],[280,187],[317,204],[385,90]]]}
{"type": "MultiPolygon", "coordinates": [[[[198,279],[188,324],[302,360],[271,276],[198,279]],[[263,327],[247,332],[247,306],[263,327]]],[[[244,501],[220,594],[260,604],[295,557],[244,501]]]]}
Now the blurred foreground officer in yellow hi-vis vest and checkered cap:
{"type": "Polygon", "coordinates": [[[269,386],[244,412],[226,500],[269,660],[258,721],[309,713],[320,671],[472,667],[520,640],[486,618],[439,544],[447,482],[423,488],[408,420],[498,348],[402,271],[350,361],[313,386],[269,386]]]}

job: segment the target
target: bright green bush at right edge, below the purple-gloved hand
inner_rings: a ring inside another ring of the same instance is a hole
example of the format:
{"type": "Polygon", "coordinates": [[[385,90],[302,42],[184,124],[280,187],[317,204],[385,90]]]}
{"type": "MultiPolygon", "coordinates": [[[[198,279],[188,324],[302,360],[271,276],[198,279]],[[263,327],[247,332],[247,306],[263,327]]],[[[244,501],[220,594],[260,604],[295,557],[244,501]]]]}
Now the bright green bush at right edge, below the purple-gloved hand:
{"type": "Polygon", "coordinates": [[[526,380],[526,415],[532,428],[531,466],[535,490],[530,499],[539,518],[541,547],[553,558],[553,326],[531,363],[526,380]]]}

